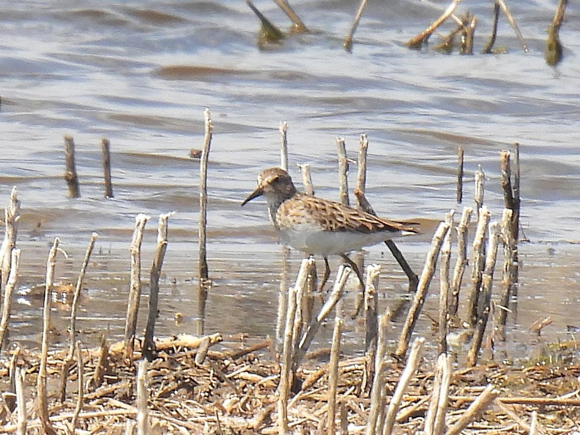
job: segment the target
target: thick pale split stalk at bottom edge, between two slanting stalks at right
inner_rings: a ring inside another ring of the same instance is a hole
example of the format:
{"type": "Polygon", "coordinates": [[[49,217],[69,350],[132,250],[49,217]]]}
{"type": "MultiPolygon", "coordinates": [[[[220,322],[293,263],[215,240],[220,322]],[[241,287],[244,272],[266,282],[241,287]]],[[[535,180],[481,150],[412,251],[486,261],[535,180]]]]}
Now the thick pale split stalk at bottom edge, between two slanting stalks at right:
{"type": "Polygon", "coordinates": [[[433,392],[425,416],[425,435],[445,432],[445,412],[447,412],[449,383],[451,382],[451,356],[439,354],[433,380],[433,392]]]}

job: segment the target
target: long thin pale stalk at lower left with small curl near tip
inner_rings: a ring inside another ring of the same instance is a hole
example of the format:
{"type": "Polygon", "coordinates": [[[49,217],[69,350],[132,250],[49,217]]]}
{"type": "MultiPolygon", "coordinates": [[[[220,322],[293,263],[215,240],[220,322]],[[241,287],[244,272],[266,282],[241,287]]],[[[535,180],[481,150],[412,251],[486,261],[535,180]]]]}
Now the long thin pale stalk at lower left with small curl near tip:
{"type": "Polygon", "coordinates": [[[56,435],[48,416],[48,391],[46,390],[46,358],[48,356],[48,333],[50,328],[50,302],[52,300],[52,283],[55,277],[56,253],[59,250],[60,240],[55,238],[55,242],[50,248],[48,261],[46,262],[46,281],[44,289],[44,309],[42,310],[42,339],[41,339],[41,359],[38,367],[38,417],[41,421],[42,429],[47,435],[56,435]]]}

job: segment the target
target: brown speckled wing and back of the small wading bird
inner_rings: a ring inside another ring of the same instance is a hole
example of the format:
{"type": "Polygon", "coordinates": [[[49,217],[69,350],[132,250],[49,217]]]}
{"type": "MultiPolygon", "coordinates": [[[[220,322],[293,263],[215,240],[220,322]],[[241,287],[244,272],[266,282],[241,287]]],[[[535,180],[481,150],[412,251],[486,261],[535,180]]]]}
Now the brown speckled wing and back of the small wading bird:
{"type": "Polygon", "coordinates": [[[350,231],[364,234],[382,231],[419,232],[412,224],[378,218],[339,202],[306,194],[297,194],[282,202],[276,214],[281,228],[291,227],[292,224],[311,223],[320,225],[325,231],[350,231]]]}

